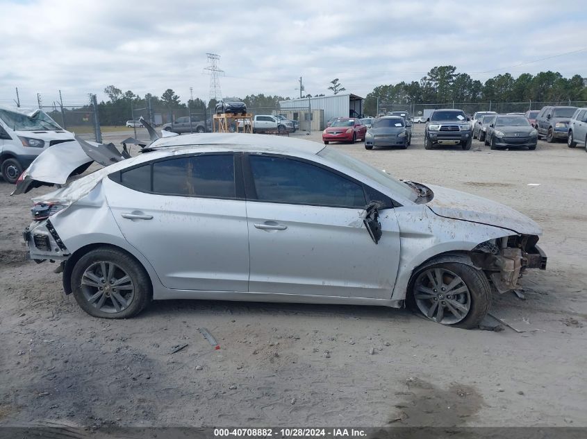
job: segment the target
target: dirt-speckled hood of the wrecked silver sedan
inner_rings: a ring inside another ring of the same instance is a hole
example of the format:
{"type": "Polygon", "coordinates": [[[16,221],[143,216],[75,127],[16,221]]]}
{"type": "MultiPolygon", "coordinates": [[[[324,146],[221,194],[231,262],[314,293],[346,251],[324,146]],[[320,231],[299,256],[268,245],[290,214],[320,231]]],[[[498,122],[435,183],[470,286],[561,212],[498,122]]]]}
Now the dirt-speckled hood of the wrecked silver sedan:
{"type": "Polygon", "coordinates": [[[434,193],[427,206],[438,216],[494,225],[518,234],[542,234],[538,224],[511,207],[446,187],[431,184],[427,187],[434,193]]]}

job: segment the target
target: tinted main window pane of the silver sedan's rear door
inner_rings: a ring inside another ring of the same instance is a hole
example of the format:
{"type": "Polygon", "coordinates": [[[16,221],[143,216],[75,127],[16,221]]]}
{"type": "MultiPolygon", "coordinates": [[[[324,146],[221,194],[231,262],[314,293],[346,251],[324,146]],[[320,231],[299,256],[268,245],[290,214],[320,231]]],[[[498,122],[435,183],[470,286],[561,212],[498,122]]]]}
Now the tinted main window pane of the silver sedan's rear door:
{"type": "Polygon", "coordinates": [[[233,155],[197,155],[154,162],[153,191],[180,196],[234,198],[233,155]]]}

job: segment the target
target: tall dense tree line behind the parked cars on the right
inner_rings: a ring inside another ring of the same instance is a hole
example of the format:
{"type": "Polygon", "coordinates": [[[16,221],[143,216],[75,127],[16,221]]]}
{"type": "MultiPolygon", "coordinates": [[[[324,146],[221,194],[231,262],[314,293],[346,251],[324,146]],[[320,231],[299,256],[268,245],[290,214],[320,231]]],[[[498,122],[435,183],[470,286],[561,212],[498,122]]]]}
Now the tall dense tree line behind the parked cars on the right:
{"type": "Polygon", "coordinates": [[[499,74],[482,83],[456,67],[433,67],[420,81],[378,85],[365,98],[365,114],[377,113],[377,101],[402,103],[488,103],[587,101],[587,87],[580,75],[564,78],[559,72],[539,74],[499,74]]]}

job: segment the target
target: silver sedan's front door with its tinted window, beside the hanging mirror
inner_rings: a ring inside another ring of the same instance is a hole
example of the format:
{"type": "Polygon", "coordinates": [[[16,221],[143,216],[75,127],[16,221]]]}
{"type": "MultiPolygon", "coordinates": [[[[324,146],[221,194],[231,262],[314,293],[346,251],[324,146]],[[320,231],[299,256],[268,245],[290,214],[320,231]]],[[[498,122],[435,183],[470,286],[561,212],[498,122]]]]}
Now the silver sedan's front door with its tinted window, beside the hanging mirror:
{"type": "Polygon", "coordinates": [[[249,291],[391,298],[399,264],[393,209],[380,212],[375,244],[361,184],[291,157],[248,159],[249,291]]]}

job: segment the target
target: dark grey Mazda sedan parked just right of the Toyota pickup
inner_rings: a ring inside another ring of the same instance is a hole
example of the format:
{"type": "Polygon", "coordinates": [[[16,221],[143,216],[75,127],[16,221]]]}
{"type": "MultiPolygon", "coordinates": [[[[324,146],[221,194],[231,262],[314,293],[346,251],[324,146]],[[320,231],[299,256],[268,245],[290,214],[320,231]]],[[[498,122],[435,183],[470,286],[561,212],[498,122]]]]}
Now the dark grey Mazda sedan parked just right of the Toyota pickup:
{"type": "Polygon", "coordinates": [[[498,114],[487,128],[485,144],[490,145],[491,149],[527,147],[535,150],[538,131],[525,116],[498,114]]]}

